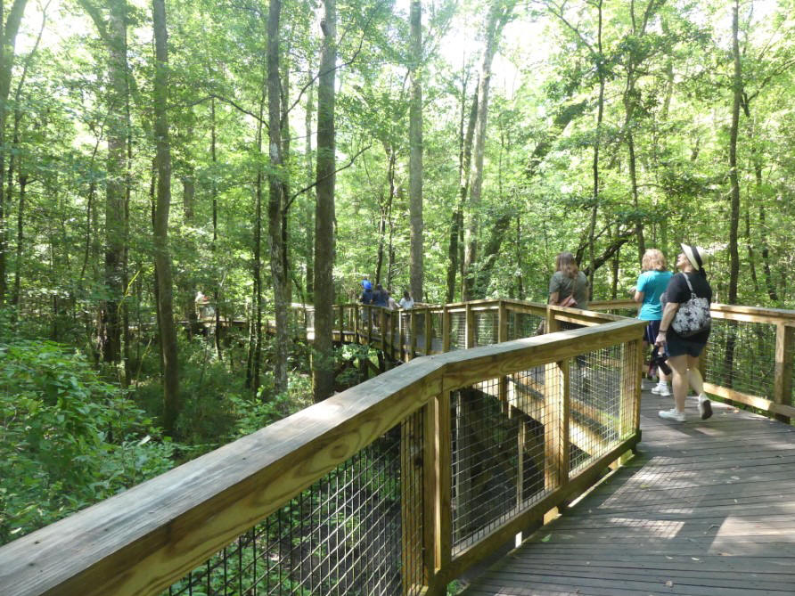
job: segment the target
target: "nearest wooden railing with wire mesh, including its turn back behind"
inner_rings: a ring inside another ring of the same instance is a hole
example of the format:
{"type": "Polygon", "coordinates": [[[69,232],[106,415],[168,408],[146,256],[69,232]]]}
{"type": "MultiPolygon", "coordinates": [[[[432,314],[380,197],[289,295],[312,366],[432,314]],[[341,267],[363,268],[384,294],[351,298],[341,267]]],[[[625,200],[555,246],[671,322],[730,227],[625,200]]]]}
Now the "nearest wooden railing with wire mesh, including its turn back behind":
{"type": "Polygon", "coordinates": [[[444,593],[640,437],[643,323],[424,314],[459,312],[463,347],[553,332],[416,358],[7,544],[0,593],[444,593]]]}

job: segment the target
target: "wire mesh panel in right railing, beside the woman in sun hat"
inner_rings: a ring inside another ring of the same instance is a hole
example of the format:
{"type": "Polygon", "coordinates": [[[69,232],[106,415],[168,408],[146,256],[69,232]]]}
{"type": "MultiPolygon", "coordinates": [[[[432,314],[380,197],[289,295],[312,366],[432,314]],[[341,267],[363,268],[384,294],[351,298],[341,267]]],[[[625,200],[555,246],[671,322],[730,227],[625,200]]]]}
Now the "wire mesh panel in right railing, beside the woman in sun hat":
{"type": "Polygon", "coordinates": [[[775,331],[774,323],[712,319],[704,380],[773,399],[775,331]]]}

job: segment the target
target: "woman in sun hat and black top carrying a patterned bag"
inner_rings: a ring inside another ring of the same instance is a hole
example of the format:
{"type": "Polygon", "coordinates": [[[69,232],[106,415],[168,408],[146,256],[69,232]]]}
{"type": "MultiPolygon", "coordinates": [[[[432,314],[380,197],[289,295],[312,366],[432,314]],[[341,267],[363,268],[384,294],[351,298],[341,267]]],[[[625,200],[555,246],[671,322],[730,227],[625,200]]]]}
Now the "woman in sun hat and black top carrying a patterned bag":
{"type": "Polygon", "coordinates": [[[676,268],[681,273],[671,278],[662,297],[662,321],[654,343],[665,347],[668,364],[674,372],[675,407],[660,411],[660,418],[666,420],[684,422],[688,382],[699,396],[701,420],[712,415],[712,404],[704,393],[699,370],[699,356],[709,339],[709,302],[712,300],[712,288],[704,271],[707,258],[706,250],[683,243],[682,252],[676,257],[676,268]]]}

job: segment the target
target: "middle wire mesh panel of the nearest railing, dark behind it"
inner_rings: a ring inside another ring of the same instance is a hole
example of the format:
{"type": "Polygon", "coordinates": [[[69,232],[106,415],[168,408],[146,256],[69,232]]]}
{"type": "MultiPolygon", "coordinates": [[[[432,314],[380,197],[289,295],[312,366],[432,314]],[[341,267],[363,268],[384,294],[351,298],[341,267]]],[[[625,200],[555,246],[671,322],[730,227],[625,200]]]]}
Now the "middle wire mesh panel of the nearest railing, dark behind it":
{"type": "Polygon", "coordinates": [[[549,488],[545,476],[553,460],[545,454],[549,449],[545,441],[554,440],[550,408],[558,407],[561,400],[539,391],[537,374],[517,373],[453,394],[454,553],[540,499],[549,488]]]}

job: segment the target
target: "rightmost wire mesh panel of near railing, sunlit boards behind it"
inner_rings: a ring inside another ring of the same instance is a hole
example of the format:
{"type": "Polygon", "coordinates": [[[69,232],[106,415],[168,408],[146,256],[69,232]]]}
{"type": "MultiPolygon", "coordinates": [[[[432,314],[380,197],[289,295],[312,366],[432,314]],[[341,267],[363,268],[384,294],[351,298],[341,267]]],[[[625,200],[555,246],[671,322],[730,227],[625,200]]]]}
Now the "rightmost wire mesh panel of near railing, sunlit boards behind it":
{"type": "Polygon", "coordinates": [[[634,431],[635,343],[578,355],[570,363],[570,461],[572,475],[634,431]]]}

